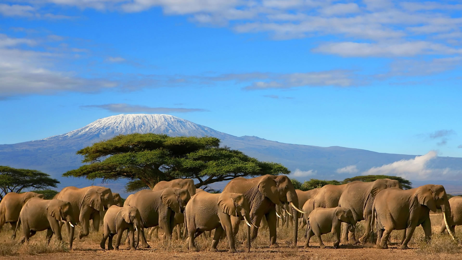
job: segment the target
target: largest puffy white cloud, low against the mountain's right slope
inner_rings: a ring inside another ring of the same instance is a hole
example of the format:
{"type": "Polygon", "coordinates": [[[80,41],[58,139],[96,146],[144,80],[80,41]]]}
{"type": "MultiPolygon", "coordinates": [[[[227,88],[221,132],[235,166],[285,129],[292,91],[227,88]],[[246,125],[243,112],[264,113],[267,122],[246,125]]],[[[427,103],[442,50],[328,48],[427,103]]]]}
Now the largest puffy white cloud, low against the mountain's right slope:
{"type": "Polygon", "coordinates": [[[413,159],[395,161],[381,167],[372,167],[362,173],[363,175],[383,174],[401,176],[410,180],[429,180],[429,179],[447,179],[450,177],[460,177],[462,170],[453,170],[450,168],[433,169],[428,168],[428,163],[437,157],[436,151],[430,151],[426,155],[416,156],[413,159]]]}

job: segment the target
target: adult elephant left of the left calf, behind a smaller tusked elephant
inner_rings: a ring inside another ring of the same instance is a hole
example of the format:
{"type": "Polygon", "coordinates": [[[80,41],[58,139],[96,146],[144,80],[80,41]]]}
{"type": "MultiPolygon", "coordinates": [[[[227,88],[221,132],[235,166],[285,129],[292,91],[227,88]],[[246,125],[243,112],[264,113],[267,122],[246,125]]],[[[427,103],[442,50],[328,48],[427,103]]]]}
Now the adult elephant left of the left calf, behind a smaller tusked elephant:
{"type": "MultiPolygon", "coordinates": [[[[100,211],[104,211],[114,205],[114,197],[111,189],[102,186],[88,186],[77,188],[69,186],[55,195],[55,198],[68,201],[72,205],[74,219],[78,219],[82,225],[79,231],[79,239],[89,234],[90,219],[93,228],[99,230],[100,211]]],[[[70,234],[70,225],[66,223],[67,234],[70,234]]]]}

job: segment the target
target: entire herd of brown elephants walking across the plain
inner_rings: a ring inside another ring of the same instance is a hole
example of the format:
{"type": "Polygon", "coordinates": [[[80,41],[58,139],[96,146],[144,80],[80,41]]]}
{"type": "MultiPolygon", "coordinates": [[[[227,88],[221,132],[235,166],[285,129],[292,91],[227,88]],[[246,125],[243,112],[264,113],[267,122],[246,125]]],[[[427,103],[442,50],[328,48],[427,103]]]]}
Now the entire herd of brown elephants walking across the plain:
{"type": "MultiPolygon", "coordinates": [[[[161,181],[152,190],[129,195],[122,204],[118,193],[109,188],[89,186],[66,187],[51,200],[35,192],[8,193],[0,202],[0,230],[5,223],[14,229],[13,239],[22,230],[21,242],[37,231],[47,230],[61,240],[61,228],[66,225],[69,246],[72,248],[74,228],[79,239],[87,236],[90,225],[95,231],[103,225],[101,248],[118,249],[122,233],[128,230],[131,250],[138,246],[149,248],[145,229],[156,236],[159,229],[164,239],[171,238],[176,227],[178,238],[186,240],[185,247],[196,251],[195,238],[215,230],[210,251],[217,251],[220,238],[227,237],[230,253],[236,252],[236,235],[241,221],[246,227],[243,242],[257,236],[262,223],[269,230],[269,248],[278,248],[276,232],[279,221],[292,223],[292,247],[297,248],[298,225],[305,229],[305,248],[315,235],[321,248],[321,235],[332,232],[339,244],[366,243],[377,226],[377,248],[387,248],[392,230],[403,230],[401,248],[406,249],[414,229],[421,225],[427,240],[431,239],[430,211],[443,212],[440,232],[448,229],[453,237],[456,225],[462,225],[462,197],[448,200],[443,186],[425,185],[402,190],[396,180],[379,179],[373,182],[353,181],[343,185],[326,185],[310,191],[296,190],[285,175],[264,175],[231,180],[223,192],[213,194],[196,189],[194,181],[177,179],[161,181]],[[356,223],[365,221],[365,232],[355,237],[356,223]],[[180,225],[184,223],[184,233],[180,225]],[[343,229],[341,225],[343,224],[343,229]],[[78,225],[80,224],[80,225],[78,225]],[[21,228],[20,228],[21,227],[21,228]],[[137,232],[136,239],[134,233],[137,232]],[[112,238],[116,236],[115,247],[112,238]]],[[[454,238],[454,237],[453,237],[454,238]]]]}

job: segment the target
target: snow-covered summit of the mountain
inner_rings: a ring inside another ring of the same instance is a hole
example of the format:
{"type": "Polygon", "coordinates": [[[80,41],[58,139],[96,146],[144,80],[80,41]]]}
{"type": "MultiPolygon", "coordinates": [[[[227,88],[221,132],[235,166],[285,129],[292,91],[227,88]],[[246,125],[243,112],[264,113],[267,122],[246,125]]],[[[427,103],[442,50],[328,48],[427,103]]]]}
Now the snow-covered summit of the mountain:
{"type": "Polygon", "coordinates": [[[100,118],[86,126],[68,133],[50,136],[42,140],[63,140],[91,138],[108,139],[120,134],[156,133],[169,136],[216,136],[225,133],[213,130],[207,126],[195,124],[186,119],[164,114],[120,114],[100,118]]]}

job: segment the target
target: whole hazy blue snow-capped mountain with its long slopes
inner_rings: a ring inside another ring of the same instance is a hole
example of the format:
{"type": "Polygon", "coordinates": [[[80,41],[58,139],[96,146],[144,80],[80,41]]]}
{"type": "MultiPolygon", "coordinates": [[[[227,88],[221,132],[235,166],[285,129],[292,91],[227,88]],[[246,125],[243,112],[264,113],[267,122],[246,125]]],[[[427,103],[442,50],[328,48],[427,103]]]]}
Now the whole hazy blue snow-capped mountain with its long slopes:
{"type": "MultiPolygon", "coordinates": [[[[316,171],[310,176],[296,177],[303,181],[310,178],[343,180],[359,175],[371,167],[379,167],[395,161],[408,160],[416,155],[377,153],[362,149],[339,146],[319,147],[275,142],[256,136],[232,136],[207,126],[170,115],[121,114],[98,119],[71,132],[44,139],[0,145],[0,165],[33,168],[51,174],[65,186],[86,186],[93,182],[85,179],[65,178],[61,174],[81,165],[82,157],[76,155],[79,149],[94,142],[109,139],[119,134],[157,133],[169,136],[214,136],[222,145],[239,149],[245,154],[262,161],[280,162],[292,172],[316,171]],[[337,173],[342,167],[355,165],[357,173],[337,173]]],[[[462,158],[437,157],[429,167],[462,169],[462,158]]],[[[98,184],[100,181],[94,182],[98,184]]],[[[454,185],[454,182],[451,182],[454,185]]],[[[116,192],[123,193],[123,183],[108,183],[116,192]]],[[[216,184],[220,188],[224,184],[216,184]]],[[[454,188],[458,189],[458,188],[454,188]]],[[[462,193],[462,189],[461,189],[462,193]]]]}

